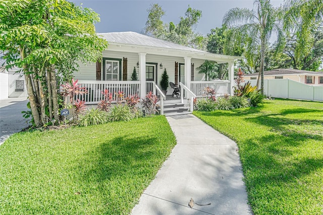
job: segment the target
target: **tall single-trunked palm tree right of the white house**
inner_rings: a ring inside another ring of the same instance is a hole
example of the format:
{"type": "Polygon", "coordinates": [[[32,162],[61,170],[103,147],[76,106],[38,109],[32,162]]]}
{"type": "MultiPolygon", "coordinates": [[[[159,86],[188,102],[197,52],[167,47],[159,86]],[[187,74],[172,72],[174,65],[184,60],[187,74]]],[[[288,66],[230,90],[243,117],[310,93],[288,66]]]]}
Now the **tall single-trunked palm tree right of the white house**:
{"type": "Polygon", "coordinates": [[[262,94],[265,45],[271,38],[273,32],[278,33],[279,44],[282,44],[283,32],[279,26],[280,16],[280,10],[275,9],[271,5],[270,0],[255,0],[253,10],[233,8],[223,18],[223,24],[245,35],[249,53],[252,52],[250,51],[252,49],[256,50],[260,44],[259,75],[261,78],[260,88],[262,94]]]}

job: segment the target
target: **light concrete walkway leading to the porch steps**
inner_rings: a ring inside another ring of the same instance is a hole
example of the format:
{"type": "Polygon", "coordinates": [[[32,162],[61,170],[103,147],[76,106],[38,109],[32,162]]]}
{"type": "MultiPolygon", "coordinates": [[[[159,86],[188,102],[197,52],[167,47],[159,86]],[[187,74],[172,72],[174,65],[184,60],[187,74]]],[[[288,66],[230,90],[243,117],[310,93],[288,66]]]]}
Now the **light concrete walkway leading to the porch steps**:
{"type": "Polygon", "coordinates": [[[193,115],[167,120],[177,145],[132,214],[252,214],[236,143],[193,115]]]}

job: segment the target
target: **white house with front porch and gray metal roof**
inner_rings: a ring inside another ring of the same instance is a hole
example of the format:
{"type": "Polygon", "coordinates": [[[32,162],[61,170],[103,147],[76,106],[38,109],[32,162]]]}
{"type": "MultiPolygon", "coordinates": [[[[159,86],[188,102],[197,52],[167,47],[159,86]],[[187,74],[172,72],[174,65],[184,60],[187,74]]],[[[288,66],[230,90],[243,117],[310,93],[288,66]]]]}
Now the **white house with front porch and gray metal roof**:
{"type": "MultiPolygon", "coordinates": [[[[103,59],[96,64],[80,64],[75,78],[90,91],[85,97],[87,103],[97,103],[101,99],[100,91],[122,90],[125,94],[155,93],[164,69],[170,82],[191,90],[199,96],[206,86],[216,88],[218,94],[232,94],[234,85],[234,60],[240,57],[216,55],[183,45],[152,38],[135,32],[98,33],[109,43],[103,51],[103,59]],[[218,64],[228,63],[229,80],[201,81],[203,75],[196,70],[205,60],[218,64]],[[139,81],[131,81],[133,69],[136,69],[139,81]]],[[[168,95],[173,89],[168,88],[168,95]]],[[[188,92],[187,92],[188,93],[188,92]]]]}

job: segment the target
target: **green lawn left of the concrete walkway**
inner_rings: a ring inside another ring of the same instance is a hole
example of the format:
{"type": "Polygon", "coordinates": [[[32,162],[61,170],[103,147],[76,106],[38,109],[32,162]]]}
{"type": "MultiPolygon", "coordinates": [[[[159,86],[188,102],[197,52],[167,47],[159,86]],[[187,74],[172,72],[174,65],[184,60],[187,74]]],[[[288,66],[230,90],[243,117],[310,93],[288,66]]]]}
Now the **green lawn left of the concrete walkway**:
{"type": "Polygon", "coordinates": [[[124,214],[176,144],[165,117],[22,132],[0,146],[0,214],[124,214]]]}

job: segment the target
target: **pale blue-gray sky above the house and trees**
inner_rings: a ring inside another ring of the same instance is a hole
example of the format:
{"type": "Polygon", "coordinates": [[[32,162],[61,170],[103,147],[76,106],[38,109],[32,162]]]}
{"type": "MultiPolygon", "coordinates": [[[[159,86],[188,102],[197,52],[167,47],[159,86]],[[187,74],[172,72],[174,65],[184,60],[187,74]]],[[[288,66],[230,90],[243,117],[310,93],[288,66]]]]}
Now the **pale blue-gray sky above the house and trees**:
{"type": "MultiPolygon", "coordinates": [[[[84,8],[91,8],[100,14],[101,22],[95,25],[98,33],[133,31],[141,33],[145,27],[148,12],[152,4],[158,3],[165,11],[162,18],[164,22],[179,22],[179,17],[185,15],[190,6],[193,9],[202,11],[202,18],[199,20],[195,31],[206,36],[212,28],[222,26],[222,18],[231,8],[252,9],[252,0],[69,0],[84,8]]],[[[272,0],[274,7],[283,4],[284,1],[272,0]]]]}

